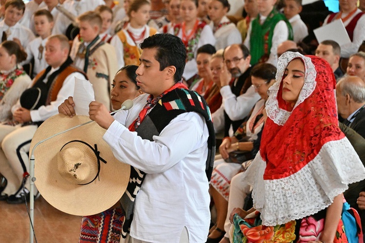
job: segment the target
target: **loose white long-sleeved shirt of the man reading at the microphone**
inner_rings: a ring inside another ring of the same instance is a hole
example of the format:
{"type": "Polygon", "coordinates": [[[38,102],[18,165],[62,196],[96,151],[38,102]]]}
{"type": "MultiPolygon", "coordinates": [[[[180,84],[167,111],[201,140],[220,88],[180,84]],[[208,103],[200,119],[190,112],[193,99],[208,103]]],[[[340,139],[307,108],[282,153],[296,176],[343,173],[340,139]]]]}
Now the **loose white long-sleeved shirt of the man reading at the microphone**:
{"type": "Polygon", "coordinates": [[[135,199],[130,236],[152,243],[179,243],[186,226],[190,243],[205,242],[210,222],[205,120],[195,112],[183,113],[153,141],[142,139],[127,127],[147,97],[140,95],[131,109],[116,113],[103,137],[118,160],[146,172],[135,199]]]}

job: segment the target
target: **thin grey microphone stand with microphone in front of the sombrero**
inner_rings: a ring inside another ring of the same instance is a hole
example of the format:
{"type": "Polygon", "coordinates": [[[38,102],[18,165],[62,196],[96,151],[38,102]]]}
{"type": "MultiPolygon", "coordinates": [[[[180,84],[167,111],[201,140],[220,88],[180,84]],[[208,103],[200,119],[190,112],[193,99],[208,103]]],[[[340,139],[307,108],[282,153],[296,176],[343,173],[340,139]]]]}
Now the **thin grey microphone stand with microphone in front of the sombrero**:
{"type": "MultiPolygon", "coordinates": [[[[133,106],[133,101],[131,100],[126,100],[125,102],[123,102],[122,104],[122,107],[119,109],[119,110],[116,110],[116,111],[113,111],[110,113],[110,115],[114,115],[115,113],[117,113],[118,111],[120,110],[128,110],[130,109],[131,107],[133,106]]],[[[68,131],[71,131],[75,128],[78,128],[80,126],[83,126],[83,125],[86,125],[86,124],[89,124],[91,123],[92,121],[87,121],[85,123],[82,123],[80,125],[77,125],[77,126],[74,126],[74,127],[71,127],[65,131],[62,131],[62,132],[59,132],[59,133],[56,133],[55,135],[52,135],[51,137],[47,138],[47,139],[43,139],[43,140],[40,140],[39,142],[36,143],[36,145],[34,145],[33,149],[32,149],[32,153],[31,153],[31,156],[30,156],[30,168],[29,168],[29,179],[30,179],[30,186],[29,186],[29,196],[30,196],[30,200],[29,200],[29,214],[30,214],[30,226],[29,226],[29,242],[30,243],[33,243],[34,241],[34,237],[33,237],[33,229],[34,229],[34,182],[37,180],[36,177],[34,176],[34,165],[35,165],[35,157],[34,157],[34,151],[35,149],[37,148],[37,146],[49,139],[52,139],[60,134],[63,134],[63,133],[66,133],[68,131]]]]}

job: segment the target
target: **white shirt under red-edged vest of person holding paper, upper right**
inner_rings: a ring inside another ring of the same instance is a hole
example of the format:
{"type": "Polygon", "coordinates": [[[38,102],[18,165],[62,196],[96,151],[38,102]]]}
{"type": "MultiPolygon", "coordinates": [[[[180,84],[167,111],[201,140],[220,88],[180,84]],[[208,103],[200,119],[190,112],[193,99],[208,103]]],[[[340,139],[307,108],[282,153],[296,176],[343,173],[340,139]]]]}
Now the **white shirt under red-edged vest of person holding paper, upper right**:
{"type": "MultiPolygon", "coordinates": [[[[351,17],[349,17],[345,22],[344,25],[345,27],[351,22],[351,20],[357,15],[361,13],[360,9],[357,9],[355,14],[353,14],[351,17]]],[[[342,17],[347,17],[348,14],[342,14],[342,17]]],[[[329,16],[326,17],[325,22],[323,23],[323,25],[328,24],[328,18],[329,16]]],[[[332,20],[333,21],[333,20],[332,20]]],[[[364,36],[365,36],[365,15],[363,15],[362,17],[359,18],[359,20],[357,20],[355,29],[354,29],[354,35],[352,38],[352,42],[348,43],[346,45],[341,45],[341,56],[348,58],[350,57],[350,55],[354,54],[357,52],[357,50],[359,49],[361,43],[363,43],[364,40],[364,36]]]]}

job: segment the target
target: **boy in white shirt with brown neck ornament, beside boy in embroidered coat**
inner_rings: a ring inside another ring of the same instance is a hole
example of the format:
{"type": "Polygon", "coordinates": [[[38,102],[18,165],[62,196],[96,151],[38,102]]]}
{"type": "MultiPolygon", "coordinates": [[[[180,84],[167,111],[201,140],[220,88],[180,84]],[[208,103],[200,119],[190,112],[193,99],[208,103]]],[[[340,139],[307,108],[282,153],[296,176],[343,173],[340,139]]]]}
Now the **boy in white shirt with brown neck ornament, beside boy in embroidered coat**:
{"type": "Polygon", "coordinates": [[[34,24],[37,35],[39,36],[28,43],[25,49],[28,56],[24,63],[22,63],[31,63],[33,65],[33,69],[29,72],[32,77],[35,77],[41,70],[48,66],[44,58],[44,52],[46,51],[44,46],[48,40],[48,36],[52,33],[54,26],[53,16],[48,10],[38,10],[34,13],[34,24]]]}

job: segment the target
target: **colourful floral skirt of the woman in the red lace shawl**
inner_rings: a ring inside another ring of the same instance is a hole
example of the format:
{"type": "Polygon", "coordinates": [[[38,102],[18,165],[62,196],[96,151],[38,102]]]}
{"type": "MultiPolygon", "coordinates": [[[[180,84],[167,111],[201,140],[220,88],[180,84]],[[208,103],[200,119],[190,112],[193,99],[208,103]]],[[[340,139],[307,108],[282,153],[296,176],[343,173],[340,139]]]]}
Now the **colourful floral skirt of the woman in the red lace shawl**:
{"type": "MultiPolygon", "coordinates": [[[[263,226],[258,211],[252,217],[243,220],[237,214],[231,226],[230,238],[233,243],[296,243],[320,239],[324,230],[326,209],[300,220],[283,225],[263,226]]],[[[341,219],[338,223],[334,243],[363,242],[360,217],[356,210],[344,203],[341,219]]]]}

